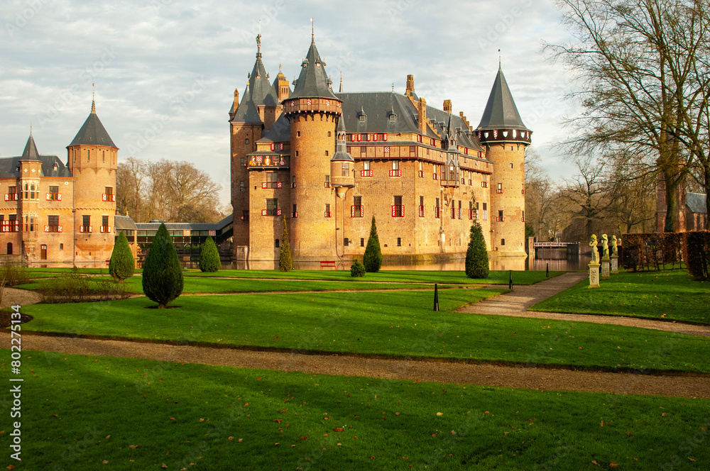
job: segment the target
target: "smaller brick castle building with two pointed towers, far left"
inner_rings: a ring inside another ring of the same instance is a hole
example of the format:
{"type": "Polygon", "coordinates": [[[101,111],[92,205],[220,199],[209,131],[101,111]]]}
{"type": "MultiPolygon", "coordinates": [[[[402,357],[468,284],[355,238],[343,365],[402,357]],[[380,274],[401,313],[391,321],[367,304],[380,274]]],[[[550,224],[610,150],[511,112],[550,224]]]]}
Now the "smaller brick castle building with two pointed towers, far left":
{"type": "Polygon", "coordinates": [[[91,113],[67,146],[67,165],[41,155],[0,158],[0,260],[23,266],[106,267],[114,248],[118,148],[91,113]]]}

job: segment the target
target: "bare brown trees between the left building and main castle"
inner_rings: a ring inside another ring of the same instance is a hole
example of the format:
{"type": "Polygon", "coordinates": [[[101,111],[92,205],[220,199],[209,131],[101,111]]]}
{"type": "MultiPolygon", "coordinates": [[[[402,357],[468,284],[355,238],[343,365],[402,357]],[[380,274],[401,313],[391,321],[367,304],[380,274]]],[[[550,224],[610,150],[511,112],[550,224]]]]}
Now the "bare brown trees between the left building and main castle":
{"type": "Polygon", "coordinates": [[[220,189],[190,162],[129,157],[116,170],[116,209],[136,222],[212,223],[226,216],[220,189]]]}

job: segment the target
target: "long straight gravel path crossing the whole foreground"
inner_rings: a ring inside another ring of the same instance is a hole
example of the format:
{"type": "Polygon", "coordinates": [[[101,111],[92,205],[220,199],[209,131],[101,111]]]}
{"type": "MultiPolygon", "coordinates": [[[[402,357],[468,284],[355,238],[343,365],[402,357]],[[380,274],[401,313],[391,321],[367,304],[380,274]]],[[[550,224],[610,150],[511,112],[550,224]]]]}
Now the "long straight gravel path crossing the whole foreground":
{"type": "MultiPolygon", "coordinates": [[[[9,334],[5,332],[0,334],[4,345],[9,343],[8,336],[9,334]]],[[[581,372],[535,367],[469,365],[455,362],[383,360],[341,355],[302,355],[299,353],[256,352],[230,348],[35,335],[23,336],[22,346],[26,350],[148,358],[170,362],[301,371],[321,375],[366,376],[481,386],[710,399],[710,377],[581,372]]]]}

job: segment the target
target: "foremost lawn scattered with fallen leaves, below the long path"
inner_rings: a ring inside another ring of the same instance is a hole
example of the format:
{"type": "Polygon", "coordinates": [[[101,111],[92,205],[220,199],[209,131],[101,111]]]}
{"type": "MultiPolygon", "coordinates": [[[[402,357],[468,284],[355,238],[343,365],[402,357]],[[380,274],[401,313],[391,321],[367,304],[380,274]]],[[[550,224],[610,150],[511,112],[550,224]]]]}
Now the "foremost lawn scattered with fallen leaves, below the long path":
{"type": "MultiPolygon", "coordinates": [[[[9,458],[9,440],[3,447],[5,465],[17,469],[577,470],[616,463],[698,470],[710,463],[708,400],[24,355],[23,461],[9,458]]],[[[9,438],[11,430],[6,423],[2,433],[9,438]]]]}

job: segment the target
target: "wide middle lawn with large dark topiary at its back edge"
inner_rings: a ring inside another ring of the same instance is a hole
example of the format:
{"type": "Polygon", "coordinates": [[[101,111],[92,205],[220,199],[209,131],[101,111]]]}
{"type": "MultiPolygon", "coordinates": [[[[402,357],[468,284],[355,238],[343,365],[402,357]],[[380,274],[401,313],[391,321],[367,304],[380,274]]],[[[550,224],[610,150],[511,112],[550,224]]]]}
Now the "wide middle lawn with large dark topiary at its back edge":
{"type": "Polygon", "coordinates": [[[452,312],[501,292],[243,294],[181,297],[145,309],[145,297],[24,306],[26,331],[190,341],[284,350],[567,365],[607,370],[710,372],[710,338],[623,326],[452,312]]]}

